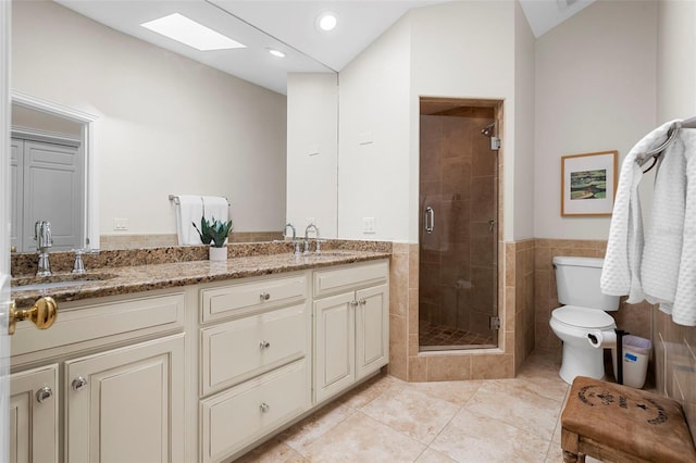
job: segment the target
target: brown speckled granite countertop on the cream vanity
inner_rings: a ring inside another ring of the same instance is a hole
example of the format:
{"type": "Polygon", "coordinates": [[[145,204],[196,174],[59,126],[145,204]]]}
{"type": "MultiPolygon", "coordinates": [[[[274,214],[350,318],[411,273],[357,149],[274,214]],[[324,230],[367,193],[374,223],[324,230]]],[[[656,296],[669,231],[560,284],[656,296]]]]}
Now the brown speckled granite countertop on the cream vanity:
{"type": "MultiPolygon", "coordinates": [[[[187,261],[147,265],[96,267],[77,278],[74,285],[49,289],[17,290],[11,288],[12,299],[18,308],[30,306],[44,296],[57,302],[127,295],[154,289],[174,288],[201,283],[222,281],[250,276],[271,275],[307,268],[348,264],[361,261],[388,259],[389,252],[331,250],[322,254],[294,255],[293,253],[235,256],[226,261],[187,261]]],[[[69,272],[54,273],[40,281],[61,281],[74,277],[69,272]]],[[[36,277],[17,277],[24,284],[39,283],[36,277]]]]}

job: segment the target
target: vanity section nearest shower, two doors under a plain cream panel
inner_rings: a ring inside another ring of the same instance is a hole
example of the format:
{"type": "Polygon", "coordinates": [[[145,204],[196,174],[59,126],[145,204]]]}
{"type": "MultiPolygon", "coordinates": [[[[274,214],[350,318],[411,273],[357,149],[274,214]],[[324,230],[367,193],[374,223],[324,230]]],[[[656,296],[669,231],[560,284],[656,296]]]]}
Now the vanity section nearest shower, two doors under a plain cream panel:
{"type": "Polygon", "coordinates": [[[314,400],[320,403],[389,359],[387,261],[314,272],[314,400]]]}

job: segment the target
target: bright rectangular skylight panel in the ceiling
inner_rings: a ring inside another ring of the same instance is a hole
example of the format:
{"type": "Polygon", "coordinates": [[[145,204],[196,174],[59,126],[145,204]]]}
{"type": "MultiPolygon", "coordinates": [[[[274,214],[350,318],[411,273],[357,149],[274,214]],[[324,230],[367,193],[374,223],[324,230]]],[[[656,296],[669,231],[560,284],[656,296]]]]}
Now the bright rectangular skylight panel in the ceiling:
{"type": "Polygon", "coordinates": [[[245,45],[179,13],[173,13],[140,25],[201,51],[246,48],[245,45]]]}

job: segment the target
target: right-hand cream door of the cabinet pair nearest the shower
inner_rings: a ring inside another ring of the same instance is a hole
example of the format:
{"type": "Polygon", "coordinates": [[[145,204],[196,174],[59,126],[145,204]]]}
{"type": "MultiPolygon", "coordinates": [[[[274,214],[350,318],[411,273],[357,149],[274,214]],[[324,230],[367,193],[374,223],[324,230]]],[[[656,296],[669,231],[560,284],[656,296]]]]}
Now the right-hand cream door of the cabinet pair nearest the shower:
{"type": "Polygon", "coordinates": [[[389,288],[375,286],[356,292],[356,379],[389,361],[389,288]]]}

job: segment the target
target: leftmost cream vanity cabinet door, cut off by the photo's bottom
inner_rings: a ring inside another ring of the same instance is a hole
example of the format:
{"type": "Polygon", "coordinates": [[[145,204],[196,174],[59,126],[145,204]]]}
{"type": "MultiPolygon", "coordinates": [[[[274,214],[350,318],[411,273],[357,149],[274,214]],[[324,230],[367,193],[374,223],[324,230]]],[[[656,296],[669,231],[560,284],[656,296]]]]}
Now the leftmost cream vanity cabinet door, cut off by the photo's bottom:
{"type": "Polygon", "coordinates": [[[58,365],[10,377],[10,462],[58,461],[58,365]]]}

